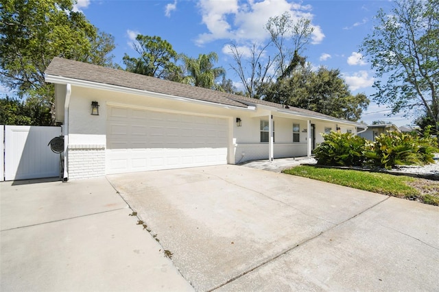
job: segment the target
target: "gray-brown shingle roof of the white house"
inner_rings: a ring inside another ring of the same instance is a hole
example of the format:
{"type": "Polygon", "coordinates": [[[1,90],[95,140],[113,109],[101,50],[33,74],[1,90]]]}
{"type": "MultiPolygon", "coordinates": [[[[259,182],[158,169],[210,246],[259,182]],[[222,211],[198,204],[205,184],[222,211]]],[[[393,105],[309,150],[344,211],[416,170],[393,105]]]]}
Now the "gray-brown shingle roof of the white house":
{"type": "MultiPolygon", "coordinates": [[[[161,93],[176,97],[187,97],[189,99],[209,101],[215,104],[237,106],[240,108],[247,108],[248,105],[260,104],[273,108],[283,108],[283,110],[290,111],[292,112],[292,114],[296,113],[303,114],[309,117],[330,119],[333,121],[344,121],[342,119],[336,119],[326,114],[320,114],[311,110],[304,110],[302,108],[295,108],[293,106],[290,106],[289,109],[285,109],[283,105],[276,104],[270,101],[252,99],[250,97],[243,97],[241,95],[232,95],[230,93],[223,93],[217,90],[195,87],[188,84],[171,82],[168,80],[161,80],[156,77],[130,73],[127,71],[97,66],[94,64],[88,64],[74,60],[67,60],[58,57],[54,58],[51,61],[45,71],[45,74],[67,77],[75,80],[97,82],[99,84],[109,84],[114,86],[121,86],[124,88],[145,90],[153,93],[161,93]]],[[[351,121],[344,122],[355,123],[351,121]]]]}

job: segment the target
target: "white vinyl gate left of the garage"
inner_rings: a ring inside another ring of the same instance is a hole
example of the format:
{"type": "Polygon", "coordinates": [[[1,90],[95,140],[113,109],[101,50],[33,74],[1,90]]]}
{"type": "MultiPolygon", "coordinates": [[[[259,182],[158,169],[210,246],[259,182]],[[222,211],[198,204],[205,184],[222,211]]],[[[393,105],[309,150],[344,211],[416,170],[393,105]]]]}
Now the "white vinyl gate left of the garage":
{"type": "Polygon", "coordinates": [[[4,144],[0,143],[0,153],[3,154],[4,151],[4,156],[0,155],[0,180],[51,178],[60,175],[60,154],[52,152],[47,144],[52,138],[61,135],[61,127],[0,125],[0,132],[0,141],[4,141],[4,144]]]}

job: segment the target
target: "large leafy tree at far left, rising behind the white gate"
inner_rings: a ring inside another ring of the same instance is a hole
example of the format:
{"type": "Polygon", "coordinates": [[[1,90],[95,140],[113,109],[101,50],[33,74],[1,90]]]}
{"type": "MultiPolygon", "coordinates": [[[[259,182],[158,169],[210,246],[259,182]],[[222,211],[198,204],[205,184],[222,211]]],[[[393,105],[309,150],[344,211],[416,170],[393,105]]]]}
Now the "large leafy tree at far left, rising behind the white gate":
{"type": "Polygon", "coordinates": [[[73,11],[73,0],[0,0],[1,83],[51,108],[44,71],[55,56],[111,66],[113,38],[73,11]]]}

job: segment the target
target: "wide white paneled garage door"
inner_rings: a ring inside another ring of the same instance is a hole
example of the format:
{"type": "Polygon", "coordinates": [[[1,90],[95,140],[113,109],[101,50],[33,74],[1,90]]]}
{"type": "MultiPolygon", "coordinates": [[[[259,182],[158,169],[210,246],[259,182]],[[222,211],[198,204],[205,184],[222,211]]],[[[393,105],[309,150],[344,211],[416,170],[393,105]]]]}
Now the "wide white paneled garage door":
{"type": "Polygon", "coordinates": [[[106,173],[227,163],[227,119],[108,108],[106,173]]]}

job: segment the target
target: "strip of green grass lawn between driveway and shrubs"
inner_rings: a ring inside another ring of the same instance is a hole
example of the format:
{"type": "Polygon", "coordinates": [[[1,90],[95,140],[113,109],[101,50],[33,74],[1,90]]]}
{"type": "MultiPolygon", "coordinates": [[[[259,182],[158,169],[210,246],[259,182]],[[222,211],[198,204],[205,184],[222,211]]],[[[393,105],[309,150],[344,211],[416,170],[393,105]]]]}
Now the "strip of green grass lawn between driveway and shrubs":
{"type": "Polygon", "coordinates": [[[435,181],[388,173],[371,173],[351,169],[327,169],[305,165],[286,169],[283,172],[373,193],[405,199],[418,199],[425,204],[439,206],[439,182],[435,181]]]}

